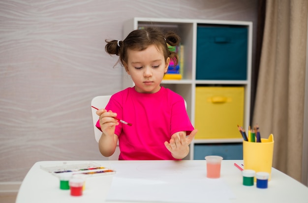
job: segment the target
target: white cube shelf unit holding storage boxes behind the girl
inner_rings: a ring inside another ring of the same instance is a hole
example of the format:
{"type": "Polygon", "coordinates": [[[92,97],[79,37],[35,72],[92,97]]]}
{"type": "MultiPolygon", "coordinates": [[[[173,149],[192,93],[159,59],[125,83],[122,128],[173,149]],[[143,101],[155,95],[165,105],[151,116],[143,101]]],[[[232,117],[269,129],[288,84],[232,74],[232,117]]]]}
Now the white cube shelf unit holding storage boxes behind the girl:
{"type": "MultiPolygon", "coordinates": [[[[172,19],[135,17],[124,23],[123,39],[139,27],[161,27],[176,30],[181,37],[184,49],[184,74],[182,80],[163,80],[162,86],[168,87],[183,96],[187,103],[187,113],[194,125],[195,122],[195,88],[196,85],[240,85],[245,87],[244,128],[249,126],[250,117],[250,87],[251,87],[251,56],[252,56],[252,22],[221,21],[202,19],[172,19]],[[197,26],[244,26],[248,29],[247,36],[247,76],[246,80],[196,80],[196,46],[197,26]]],[[[133,87],[134,84],[123,68],[123,88],[133,87]]],[[[210,143],[242,143],[242,139],[195,139],[190,145],[190,153],[186,158],[193,159],[195,144],[210,143]]]]}

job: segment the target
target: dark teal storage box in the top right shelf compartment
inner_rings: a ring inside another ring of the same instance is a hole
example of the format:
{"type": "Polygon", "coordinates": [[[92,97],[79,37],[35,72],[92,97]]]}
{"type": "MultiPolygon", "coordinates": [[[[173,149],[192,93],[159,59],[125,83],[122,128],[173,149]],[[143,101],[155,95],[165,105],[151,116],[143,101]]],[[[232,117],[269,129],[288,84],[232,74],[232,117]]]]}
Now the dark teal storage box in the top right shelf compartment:
{"type": "Polygon", "coordinates": [[[197,27],[197,80],[246,80],[247,27],[197,27]]]}

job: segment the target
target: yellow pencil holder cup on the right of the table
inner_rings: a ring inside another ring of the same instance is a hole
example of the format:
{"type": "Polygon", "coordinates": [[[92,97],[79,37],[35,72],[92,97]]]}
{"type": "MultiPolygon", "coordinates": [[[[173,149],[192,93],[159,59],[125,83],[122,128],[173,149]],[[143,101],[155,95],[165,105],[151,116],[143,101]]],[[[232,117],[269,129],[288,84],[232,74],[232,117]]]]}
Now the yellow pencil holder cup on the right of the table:
{"type": "MultiPolygon", "coordinates": [[[[261,143],[243,141],[244,169],[270,174],[273,166],[274,136],[271,134],[268,139],[261,139],[261,143]]],[[[254,178],[256,181],[256,178],[254,178]]]]}

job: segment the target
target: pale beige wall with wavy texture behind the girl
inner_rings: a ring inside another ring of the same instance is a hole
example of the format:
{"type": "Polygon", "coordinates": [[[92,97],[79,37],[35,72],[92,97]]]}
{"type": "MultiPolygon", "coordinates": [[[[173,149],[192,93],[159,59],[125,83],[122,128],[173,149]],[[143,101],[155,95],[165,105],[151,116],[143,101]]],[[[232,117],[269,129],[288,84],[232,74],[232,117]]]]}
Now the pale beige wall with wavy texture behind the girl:
{"type": "Polygon", "coordinates": [[[1,0],[0,182],[37,161],[100,160],[90,102],[121,90],[105,39],[133,17],[243,20],[257,0],[1,0]]]}

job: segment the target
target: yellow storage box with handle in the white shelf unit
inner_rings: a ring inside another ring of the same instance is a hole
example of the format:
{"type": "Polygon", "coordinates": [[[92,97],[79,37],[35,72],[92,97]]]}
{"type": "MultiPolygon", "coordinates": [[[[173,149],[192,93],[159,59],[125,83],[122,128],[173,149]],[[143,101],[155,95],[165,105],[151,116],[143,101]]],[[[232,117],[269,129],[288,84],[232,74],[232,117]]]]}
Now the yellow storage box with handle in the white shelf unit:
{"type": "Polygon", "coordinates": [[[195,139],[242,138],[244,87],[196,87],[195,139]]]}

